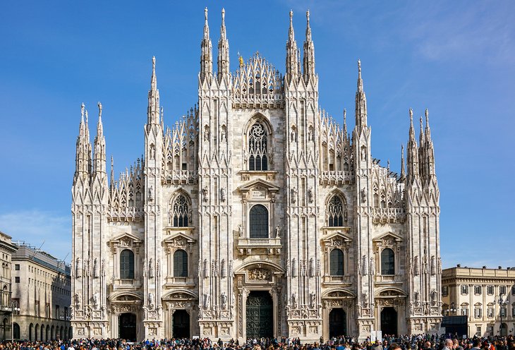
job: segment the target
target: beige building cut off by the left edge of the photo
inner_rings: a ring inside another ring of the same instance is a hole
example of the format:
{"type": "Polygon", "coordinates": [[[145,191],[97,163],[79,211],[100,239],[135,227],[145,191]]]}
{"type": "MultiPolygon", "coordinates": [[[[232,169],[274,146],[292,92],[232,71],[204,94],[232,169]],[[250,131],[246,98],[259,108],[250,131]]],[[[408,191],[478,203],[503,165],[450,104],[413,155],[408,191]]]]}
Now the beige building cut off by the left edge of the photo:
{"type": "Polygon", "coordinates": [[[11,236],[0,231],[0,341],[11,339],[11,315],[13,305],[11,303],[11,255],[16,252],[16,246],[11,242],[11,236]]]}

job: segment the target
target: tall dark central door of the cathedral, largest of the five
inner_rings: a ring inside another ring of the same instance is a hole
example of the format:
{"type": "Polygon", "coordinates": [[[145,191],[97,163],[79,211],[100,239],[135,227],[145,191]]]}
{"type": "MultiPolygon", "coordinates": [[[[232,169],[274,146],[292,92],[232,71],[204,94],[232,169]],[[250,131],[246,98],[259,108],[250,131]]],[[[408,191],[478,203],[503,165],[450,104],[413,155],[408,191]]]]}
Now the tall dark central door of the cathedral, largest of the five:
{"type": "Polygon", "coordinates": [[[247,298],[247,338],[274,336],[274,303],[268,291],[251,291],[247,298]]]}

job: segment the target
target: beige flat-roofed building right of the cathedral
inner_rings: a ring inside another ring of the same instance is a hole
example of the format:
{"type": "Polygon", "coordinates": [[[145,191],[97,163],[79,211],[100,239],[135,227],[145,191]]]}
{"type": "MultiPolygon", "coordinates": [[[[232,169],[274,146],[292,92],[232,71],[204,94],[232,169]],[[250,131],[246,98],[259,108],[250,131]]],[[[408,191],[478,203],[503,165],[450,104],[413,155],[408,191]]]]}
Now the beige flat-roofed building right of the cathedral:
{"type": "Polygon", "coordinates": [[[451,267],[442,273],[442,315],[467,316],[468,335],[514,334],[515,268],[451,267]],[[499,304],[499,296],[503,303],[499,304]],[[502,322],[501,322],[502,321],[502,322]]]}

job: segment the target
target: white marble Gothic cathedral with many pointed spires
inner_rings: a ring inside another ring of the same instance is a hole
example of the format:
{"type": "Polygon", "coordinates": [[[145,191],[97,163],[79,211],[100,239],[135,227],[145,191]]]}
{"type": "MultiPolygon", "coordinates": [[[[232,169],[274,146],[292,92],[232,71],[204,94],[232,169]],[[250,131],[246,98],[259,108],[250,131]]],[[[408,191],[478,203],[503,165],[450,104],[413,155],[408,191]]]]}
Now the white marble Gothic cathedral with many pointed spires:
{"type": "Polygon", "coordinates": [[[205,10],[198,102],[171,128],[152,59],[145,150],[118,179],[102,104],[93,143],[82,106],[73,337],[436,332],[440,191],[427,109],[418,140],[409,110],[396,174],[370,152],[360,61],[354,128],[319,106],[309,12],[302,48],[290,12],[284,73],[260,54],[231,71],[224,15],[214,71],[205,10]]]}

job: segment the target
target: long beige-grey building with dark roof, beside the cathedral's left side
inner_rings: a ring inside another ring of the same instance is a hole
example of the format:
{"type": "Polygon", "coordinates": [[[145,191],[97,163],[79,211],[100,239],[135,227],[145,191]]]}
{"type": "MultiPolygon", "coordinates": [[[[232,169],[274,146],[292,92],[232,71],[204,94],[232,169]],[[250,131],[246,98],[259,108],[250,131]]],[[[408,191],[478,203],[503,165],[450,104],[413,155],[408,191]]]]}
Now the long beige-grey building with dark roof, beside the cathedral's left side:
{"type": "Polygon", "coordinates": [[[70,327],[70,267],[25,243],[13,253],[13,315],[15,339],[68,339],[70,327]]]}

